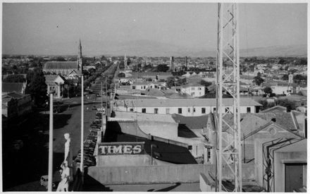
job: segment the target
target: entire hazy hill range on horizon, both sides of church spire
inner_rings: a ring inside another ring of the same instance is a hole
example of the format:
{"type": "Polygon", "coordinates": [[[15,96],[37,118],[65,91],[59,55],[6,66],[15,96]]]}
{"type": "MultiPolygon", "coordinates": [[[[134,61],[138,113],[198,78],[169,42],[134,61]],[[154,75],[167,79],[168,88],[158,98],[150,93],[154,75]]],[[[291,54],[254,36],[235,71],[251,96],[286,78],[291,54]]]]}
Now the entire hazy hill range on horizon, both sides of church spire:
{"type": "MultiPolygon", "coordinates": [[[[44,43],[43,43],[44,44],[44,43]]],[[[21,48],[34,54],[37,48],[42,48],[42,55],[75,55],[77,42],[50,42],[48,45],[27,45],[21,48]],[[39,47],[38,47],[39,46],[39,47]],[[33,47],[33,48],[32,48],[33,47]]],[[[213,46],[213,45],[212,45],[213,46]]],[[[22,46],[21,46],[22,47],[22,46]]],[[[215,47],[215,45],[213,46],[215,47]]],[[[6,53],[4,53],[6,54],[6,53]]],[[[82,41],[82,54],[86,56],[216,56],[216,48],[182,47],[174,44],[137,40],[128,42],[118,41],[82,41]]],[[[291,46],[260,47],[240,49],[240,56],[306,56],[306,44],[291,46]]]]}

